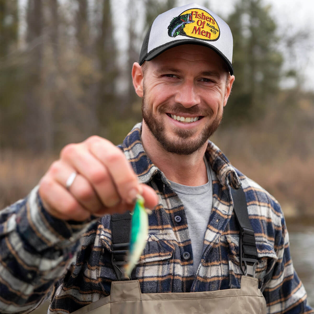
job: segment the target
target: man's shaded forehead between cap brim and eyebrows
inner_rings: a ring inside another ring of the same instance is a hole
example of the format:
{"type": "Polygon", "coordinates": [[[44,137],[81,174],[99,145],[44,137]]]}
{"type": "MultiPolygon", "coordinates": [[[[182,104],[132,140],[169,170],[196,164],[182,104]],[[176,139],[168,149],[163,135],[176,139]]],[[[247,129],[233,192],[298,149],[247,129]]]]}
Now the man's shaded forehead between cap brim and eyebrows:
{"type": "Polygon", "coordinates": [[[215,51],[201,45],[180,45],[170,48],[148,61],[147,64],[154,68],[170,65],[176,67],[205,67],[221,73],[229,73],[222,58],[215,51]]]}

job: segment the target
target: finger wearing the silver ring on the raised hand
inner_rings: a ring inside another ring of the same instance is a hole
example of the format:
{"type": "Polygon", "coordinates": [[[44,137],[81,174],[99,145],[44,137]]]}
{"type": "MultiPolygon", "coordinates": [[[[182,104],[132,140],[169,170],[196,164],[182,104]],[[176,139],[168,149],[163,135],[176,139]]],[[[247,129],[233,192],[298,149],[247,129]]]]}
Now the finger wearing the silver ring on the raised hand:
{"type": "MultiPolygon", "coordinates": [[[[63,187],[66,187],[68,178],[73,172],[75,172],[71,166],[62,160],[53,163],[50,171],[55,180],[63,187]]],[[[85,177],[81,176],[79,173],[76,174],[71,186],[68,188],[68,191],[85,209],[91,213],[95,213],[104,207],[89,181],[87,181],[85,177]]]]}

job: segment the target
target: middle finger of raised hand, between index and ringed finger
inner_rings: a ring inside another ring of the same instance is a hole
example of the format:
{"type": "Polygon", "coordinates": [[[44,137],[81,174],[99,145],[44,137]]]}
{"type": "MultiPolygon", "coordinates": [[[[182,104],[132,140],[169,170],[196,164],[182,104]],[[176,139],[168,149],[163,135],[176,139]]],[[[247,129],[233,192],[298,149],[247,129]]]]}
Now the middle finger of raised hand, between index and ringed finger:
{"type": "Polygon", "coordinates": [[[119,203],[120,196],[108,170],[87,150],[86,144],[66,146],[61,158],[89,181],[104,206],[111,207],[119,203]]]}

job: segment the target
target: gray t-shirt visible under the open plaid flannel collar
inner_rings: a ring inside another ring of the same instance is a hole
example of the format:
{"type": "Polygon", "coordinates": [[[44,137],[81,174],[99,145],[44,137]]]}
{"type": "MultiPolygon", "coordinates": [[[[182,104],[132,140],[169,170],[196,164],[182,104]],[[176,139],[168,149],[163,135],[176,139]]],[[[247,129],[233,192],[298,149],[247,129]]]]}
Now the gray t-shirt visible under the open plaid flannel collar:
{"type": "Polygon", "coordinates": [[[192,242],[194,273],[197,272],[198,265],[201,262],[204,236],[213,207],[211,169],[205,158],[204,161],[208,176],[206,184],[198,187],[190,187],[170,181],[171,188],[181,199],[187,216],[187,224],[192,242]]]}

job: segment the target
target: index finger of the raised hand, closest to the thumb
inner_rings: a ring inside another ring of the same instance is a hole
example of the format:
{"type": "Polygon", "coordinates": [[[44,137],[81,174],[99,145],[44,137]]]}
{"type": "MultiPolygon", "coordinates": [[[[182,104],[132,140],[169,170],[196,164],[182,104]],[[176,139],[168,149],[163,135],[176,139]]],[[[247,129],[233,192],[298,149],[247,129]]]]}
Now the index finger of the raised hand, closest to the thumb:
{"type": "Polygon", "coordinates": [[[107,168],[120,197],[133,203],[137,194],[142,194],[137,176],[120,149],[109,141],[88,143],[90,152],[107,168]]]}

